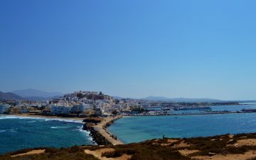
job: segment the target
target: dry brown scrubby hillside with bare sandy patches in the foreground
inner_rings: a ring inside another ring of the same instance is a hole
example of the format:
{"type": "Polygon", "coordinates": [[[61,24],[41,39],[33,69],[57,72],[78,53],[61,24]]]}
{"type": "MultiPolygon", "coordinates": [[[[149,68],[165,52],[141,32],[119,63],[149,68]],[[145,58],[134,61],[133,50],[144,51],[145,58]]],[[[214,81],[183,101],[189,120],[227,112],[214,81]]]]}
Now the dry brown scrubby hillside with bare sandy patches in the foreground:
{"type": "Polygon", "coordinates": [[[152,139],[117,146],[73,146],[67,149],[23,149],[0,156],[3,160],[256,160],[256,134],[222,135],[191,139],[152,139]]]}

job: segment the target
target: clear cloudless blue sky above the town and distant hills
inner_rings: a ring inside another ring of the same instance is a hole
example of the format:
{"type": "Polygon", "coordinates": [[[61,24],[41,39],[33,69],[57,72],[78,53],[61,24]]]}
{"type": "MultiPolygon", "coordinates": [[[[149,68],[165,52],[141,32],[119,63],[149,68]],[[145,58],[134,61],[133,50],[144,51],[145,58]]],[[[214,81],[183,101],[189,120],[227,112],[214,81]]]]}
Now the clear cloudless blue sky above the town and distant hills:
{"type": "Polygon", "coordinates": [[[0,1],[0,90],[256,100],[256,1],[0,1]]]}

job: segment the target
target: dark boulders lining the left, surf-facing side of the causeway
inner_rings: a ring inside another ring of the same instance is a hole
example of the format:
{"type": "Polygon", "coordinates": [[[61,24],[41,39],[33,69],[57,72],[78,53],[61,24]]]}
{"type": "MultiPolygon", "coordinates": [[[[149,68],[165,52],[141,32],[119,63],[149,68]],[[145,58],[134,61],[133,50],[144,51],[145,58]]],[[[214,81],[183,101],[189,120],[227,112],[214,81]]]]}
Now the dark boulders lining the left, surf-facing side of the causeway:
{"type": "Polygon", "coordinates": [[[95,124],[88,122],[83,125],[82,129],[90,132],[90,136],[98,145],[112,145],[105,137],[102,136],[102,134],[100,134],[100,132],[94,129],[94,125],[95,124]]]}

